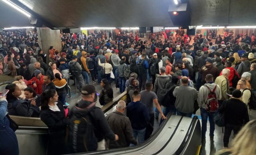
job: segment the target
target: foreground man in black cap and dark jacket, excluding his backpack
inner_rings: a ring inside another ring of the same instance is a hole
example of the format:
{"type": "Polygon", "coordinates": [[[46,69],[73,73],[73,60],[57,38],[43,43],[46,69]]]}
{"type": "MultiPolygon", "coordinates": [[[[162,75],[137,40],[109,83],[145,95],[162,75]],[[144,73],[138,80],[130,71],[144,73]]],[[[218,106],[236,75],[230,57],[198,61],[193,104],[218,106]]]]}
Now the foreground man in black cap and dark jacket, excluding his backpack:
{"type": "Polygon", "coordinates": [[[84,113],[88,113],[89,111],[89,117],[92,126],[94,127],[94,134],[98,141],[97,150],[105,150],[106,142],[104,137],[110,140],[117,141],[119,139],[118,135],[115,135],[114,132],[110,129],[110,126],[108,125],[101,108],[95,106],[95,87],[88,84],[86,86],[83,86],[81,91],[82,99],[79,100],[76,106],[70,110],[70,119],[72,119],[72,116],[76,116],[77,114],[83,116],[84,113]]]}

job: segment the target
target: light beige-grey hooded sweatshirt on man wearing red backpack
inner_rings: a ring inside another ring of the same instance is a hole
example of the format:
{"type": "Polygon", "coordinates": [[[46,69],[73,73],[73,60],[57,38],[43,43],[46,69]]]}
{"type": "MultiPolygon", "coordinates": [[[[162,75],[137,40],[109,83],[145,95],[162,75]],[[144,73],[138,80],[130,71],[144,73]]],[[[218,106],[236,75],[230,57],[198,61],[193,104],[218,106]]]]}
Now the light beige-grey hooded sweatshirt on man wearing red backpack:
{"type": "MultiPolygon", "coordinates": [[[[214,92],[216,94],[217,99],[221,99],[221,90],[219,85],[213,82],[206,83],[205,85],[208,86],[211,91],[213,91],[214,87],[216,86],[214,92]]],[[[207,97],[208,94],[210,93],[209,89],[205,85],[201,86],[198,92],[197,102],[200,108],[205,108],[207,97]]]]}

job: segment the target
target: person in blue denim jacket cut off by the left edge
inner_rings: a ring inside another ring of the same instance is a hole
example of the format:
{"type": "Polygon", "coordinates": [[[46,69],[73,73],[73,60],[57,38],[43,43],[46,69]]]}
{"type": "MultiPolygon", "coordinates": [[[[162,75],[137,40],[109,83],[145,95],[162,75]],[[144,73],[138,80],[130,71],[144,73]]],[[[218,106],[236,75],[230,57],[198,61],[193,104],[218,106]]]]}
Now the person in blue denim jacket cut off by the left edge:
{"type": "MultiPolygon", "coordinates": [[[[15,84],[14,84],[15,85],[15,84]]],[[[7,100],[0,95],[0,154],[18,155],[18,140],[7,118],[7,100]]]]}

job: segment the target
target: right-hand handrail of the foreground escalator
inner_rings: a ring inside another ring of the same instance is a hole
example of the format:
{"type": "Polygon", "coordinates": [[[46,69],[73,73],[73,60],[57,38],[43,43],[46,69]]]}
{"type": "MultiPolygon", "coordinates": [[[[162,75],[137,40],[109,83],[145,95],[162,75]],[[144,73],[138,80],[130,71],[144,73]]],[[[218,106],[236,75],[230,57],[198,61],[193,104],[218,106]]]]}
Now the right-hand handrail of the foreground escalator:
{"type": "Polygon", "coordinates": [[[183,151],[183,149],[185,148],[186,144],[188,143],[188,140],[189,140],[189,137],[192,134],[192,131],[194,131],[194,128],[196,126],[197,121],[198,121],[198,117],[194,116],[192,121],[191,121],[191,123],[190,123],[189,129],[188,129],[188,131],[186,133],[186,136],[185,136],[184,140],[182,141],[180,147],[177,149],[177,151],[173,155],[180,154],[183,151]]]}

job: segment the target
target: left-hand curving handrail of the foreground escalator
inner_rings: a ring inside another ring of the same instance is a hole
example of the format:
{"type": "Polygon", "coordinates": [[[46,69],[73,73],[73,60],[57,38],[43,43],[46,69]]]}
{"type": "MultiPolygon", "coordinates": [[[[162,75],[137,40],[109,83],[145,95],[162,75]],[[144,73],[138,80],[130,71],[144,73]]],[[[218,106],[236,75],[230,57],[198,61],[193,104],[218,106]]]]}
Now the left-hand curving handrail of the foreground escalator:
{"type": "MultiPolygon", "coordinates": [[[[164,122],[159,126],[159,128],[155,131],[155,133],[153,135],[150,136],[149,139],[147,139],[146,141],[144,141],[141,144],[135,145],[135,146],[128,146],[128,147],[123,147],[123,148],[112,148],[112,149],[108,149],[108,150],[101,150],[101,151],[92,151],[92,152],[83,152],[83,153],[75,153],[75,154],[89,154],[89,155],[95,155],[95,154],[109,154],[109,153],[115,153],[118,151],[129,151],[129,150],[135,150],[141,147],[146,147],[147,145],[149,145],[151,142],[153,142],[155,140],[155,138],[161,133],[161,131],[163,130],[164,126],[166,125],[166,123],[168,122],[168,120],[171,118],[172,113],[168,113],[166,120],[164,120],[164,122]]],[[[180,119],[180,121],[182,120],[182,118],[180,119]]],[[[178,126],[178,125],[177,125],[178,126]]]]}

